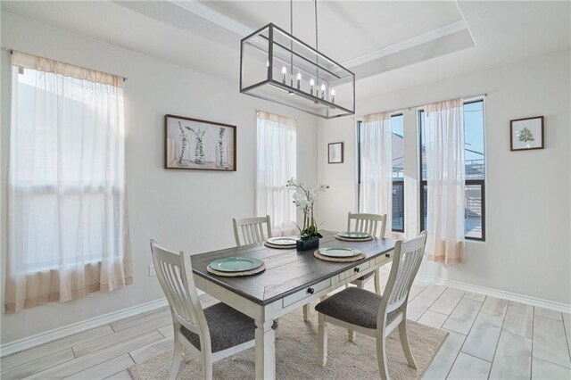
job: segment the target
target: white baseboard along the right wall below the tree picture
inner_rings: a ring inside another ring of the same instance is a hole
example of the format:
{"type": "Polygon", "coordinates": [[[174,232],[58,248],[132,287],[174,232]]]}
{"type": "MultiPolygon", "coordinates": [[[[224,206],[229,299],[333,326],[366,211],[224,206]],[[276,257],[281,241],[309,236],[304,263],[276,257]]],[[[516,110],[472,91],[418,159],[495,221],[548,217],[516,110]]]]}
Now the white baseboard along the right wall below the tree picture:
{"type": "Polygon", "coordinates": [[[504,300],[514,301],[514,302],[521,302],[532,306],[539,306],[545,309],[561,311],[564,313],[571,313],[571,305],[561,302],[543,300],[541,298],[535,298],[525,294],[511,293],[503,290],[492,289],[485,286],[472,285],[460,281],[449,280],[446,278],[423,275],[420,273],[418,273],[417,275],[417,280],[425,281],[432,284],[451,286],[468,292],[491,295],[492,297],[503,298],[504,300]]]}

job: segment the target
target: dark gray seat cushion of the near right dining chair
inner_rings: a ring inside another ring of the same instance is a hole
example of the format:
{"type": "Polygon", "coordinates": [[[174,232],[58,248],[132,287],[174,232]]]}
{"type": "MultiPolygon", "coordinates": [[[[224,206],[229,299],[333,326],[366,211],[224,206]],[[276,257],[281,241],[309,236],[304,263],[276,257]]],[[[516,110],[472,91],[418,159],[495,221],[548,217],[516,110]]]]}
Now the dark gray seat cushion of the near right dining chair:
{"type": "MultiPolygon", "coordinates": [[[[352,325],[377,328],[377,314],[380,306],[380,295],[352,286],[319,302],[315,310],[352,325]]],[[[396,318],[399,313],[399,310],[390,312],[386,318],[386,324],[396,318]]]]}

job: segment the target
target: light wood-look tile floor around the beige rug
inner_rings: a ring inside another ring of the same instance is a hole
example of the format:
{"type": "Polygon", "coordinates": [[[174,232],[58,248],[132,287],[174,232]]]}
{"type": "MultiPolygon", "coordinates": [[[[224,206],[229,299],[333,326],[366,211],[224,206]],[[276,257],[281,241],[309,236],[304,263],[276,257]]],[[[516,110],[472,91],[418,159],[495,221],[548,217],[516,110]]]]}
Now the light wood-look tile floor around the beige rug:
{"type": "MultiPolygon", "coordinates": [[[[571,379],[569,314],[426,283],[413,285],[408,314],[450,333],[426,379],[571,379]]],[[[169,310],[153,310],[5,357],[1,377],[130,379],[127,368],[170,350],[172,334],[169,310]]]]}

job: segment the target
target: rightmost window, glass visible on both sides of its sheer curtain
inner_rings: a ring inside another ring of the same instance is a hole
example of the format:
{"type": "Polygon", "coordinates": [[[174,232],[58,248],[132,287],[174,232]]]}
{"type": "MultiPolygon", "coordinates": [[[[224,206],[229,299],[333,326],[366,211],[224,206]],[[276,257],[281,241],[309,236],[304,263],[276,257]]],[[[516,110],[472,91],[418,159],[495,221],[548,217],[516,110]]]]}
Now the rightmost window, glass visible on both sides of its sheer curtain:
{"type": "MultiPolygon", "coordinates": [[[[466,238],[485,240],[485,160],[484,100],[464,103],[464,145],[466,168],[465,228],[466,238]]],[[[420,229],[426,227],[426,154],[424,141],[425,113],[418,112],[420,133],[420,229]]]]}

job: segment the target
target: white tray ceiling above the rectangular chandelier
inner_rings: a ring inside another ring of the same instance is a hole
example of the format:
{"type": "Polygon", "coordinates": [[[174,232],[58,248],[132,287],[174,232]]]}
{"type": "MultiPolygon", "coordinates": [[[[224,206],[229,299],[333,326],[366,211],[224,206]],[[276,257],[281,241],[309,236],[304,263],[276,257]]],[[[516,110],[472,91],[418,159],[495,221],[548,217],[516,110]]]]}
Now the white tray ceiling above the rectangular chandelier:
{"type": "MultiPolygon", "coordinates": [[[[10,2],[19,14],[182,66],[238,80],[239,41],[288,1],[10,2]]],[[[315,44],[314,3],[294,1],[294,35],[315,44]]],[[[569,2],[318,2],[319,51],[356,74],[357,97],[571,48],[569,2]]]]}

